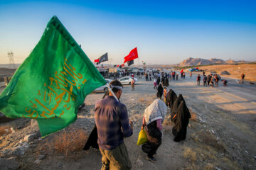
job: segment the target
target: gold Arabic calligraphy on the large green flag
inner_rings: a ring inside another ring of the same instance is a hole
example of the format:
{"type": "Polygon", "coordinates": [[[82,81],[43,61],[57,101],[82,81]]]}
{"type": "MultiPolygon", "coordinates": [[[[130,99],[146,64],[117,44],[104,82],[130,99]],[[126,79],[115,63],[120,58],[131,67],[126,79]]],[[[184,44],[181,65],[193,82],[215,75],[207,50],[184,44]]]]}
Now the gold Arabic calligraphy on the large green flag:
{"type": "Polygon", "coordinates": [[[65,113],[65,110],[68,111],[70,109],[72,104],[70,100],[75,101],[76,98],[73,94],[73,86],[78,85],[78,89],[80,89],[80,86],[85,84],[87,80],[82,80],[82,74],[75,73],[75,67],[68,64],[68,60],[65,60],[63,70],[63,72],[56,71],[54,77],[49,77],[50,84],[44,83],[46,89],[43,93],[38,90],[38,97],[41,99],[34,98],[34,101],[30,101],[31,107],[25,108],[23,118],[36,119],[38,115],[41,115],[43,118],[60,118],[65,113]],[[78,84],[79,80],[82,80],[82,84],[78,84]],[[57,93],[55,89],[62,92],[57,93]],[[68,96],[66,100],[64,99],[66,98],[65,96],[68,96]],[[54,107],[48,108],[52,102],[55,102],[54,107]],[[63,105],[60,105],[60,103],[63,103],[63,105]],[[56,113],[55,111],[59,109],[59,106],[63,106],[65,110],[56,113]],[[39,110],[43,111],[38,113],[39,110]]]}

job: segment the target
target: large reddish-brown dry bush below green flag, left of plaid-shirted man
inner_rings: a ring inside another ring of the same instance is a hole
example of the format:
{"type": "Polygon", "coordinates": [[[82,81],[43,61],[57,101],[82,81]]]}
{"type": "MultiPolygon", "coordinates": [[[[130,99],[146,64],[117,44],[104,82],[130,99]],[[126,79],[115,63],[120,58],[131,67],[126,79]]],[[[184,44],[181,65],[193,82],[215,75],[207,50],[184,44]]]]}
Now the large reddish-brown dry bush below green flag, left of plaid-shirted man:
{"type": "Polygon", "coordinates": [[[87,139],[87,133],[81,129],[69,129],[59,132],[52,140],[46,142],[46,147],[55,153],[69,153],[82,149],[87,139]]]}

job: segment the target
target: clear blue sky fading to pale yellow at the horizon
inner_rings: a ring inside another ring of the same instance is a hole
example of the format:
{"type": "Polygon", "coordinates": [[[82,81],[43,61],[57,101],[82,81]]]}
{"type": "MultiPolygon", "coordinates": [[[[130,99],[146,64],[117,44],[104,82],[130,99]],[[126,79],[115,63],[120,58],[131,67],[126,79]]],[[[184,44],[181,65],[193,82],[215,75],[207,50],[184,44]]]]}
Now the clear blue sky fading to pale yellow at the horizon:
{"type": "MultiPolygon", "coordinates": [[[[108,52],[122,64],[134,47],[134,64],[177,64],[187,59],[256,61],[256,1],[2,1],[0,64],[22,63],[52,16],[58,16],[95,60],[108,52]]],[[[107,63],[107,62],[106,62],[107,63]]]]}

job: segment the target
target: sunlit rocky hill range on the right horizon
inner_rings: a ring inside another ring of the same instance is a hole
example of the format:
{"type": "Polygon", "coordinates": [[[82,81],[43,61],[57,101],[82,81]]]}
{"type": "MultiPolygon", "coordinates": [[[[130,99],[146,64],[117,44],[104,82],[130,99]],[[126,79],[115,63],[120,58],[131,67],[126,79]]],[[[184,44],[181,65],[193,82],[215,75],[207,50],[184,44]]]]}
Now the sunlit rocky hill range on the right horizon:
{"type": "Polygon", "coordinates": [[[185,67],[185,66],[193,66],[193,65],[208,65],[208,64],[234,64],[234,63],[241,63],[241,62],[245,62],[243,60],[240,61],[234,61],[234,60],[221,60],[221,59],[216,59],[216,58],[212,58],[210,60],[206,60],[206,59],[201,59],[201,58],[192,58],[189,57],[186,60],[183,60],[183,62],[179,63],[178,66],[179,67],[185,67]]]}

